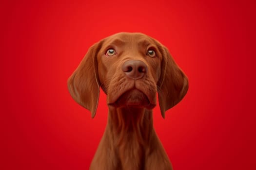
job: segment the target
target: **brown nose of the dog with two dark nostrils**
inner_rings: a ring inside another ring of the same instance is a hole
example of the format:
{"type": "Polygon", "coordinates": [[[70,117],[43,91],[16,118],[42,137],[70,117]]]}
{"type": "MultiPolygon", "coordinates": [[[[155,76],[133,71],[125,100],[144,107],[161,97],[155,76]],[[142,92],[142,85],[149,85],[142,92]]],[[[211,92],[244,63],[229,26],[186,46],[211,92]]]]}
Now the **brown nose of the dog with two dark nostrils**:
{"type": "Polygon", "coordinates": [[[140,60],[128,60],[124,62],[122,71],[127,77],[132,79],[140,79],[148,71],[146,64],[140,60]]]}

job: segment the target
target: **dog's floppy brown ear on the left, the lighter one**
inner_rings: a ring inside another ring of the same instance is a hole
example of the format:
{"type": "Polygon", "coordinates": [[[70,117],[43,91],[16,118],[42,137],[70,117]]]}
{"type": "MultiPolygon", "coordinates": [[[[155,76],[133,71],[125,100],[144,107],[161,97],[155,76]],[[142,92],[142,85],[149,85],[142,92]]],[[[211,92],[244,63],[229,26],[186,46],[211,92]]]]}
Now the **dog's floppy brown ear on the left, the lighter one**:
{"type": "Polygon", "coordinates": [[[68,79],[68,89],[72,98],[88,109],[92,113],[92,118],[95,117],[98,106],[100,85],[97,54],[100,48],[100,43],[90,47],[78,68],[68,79]]]}

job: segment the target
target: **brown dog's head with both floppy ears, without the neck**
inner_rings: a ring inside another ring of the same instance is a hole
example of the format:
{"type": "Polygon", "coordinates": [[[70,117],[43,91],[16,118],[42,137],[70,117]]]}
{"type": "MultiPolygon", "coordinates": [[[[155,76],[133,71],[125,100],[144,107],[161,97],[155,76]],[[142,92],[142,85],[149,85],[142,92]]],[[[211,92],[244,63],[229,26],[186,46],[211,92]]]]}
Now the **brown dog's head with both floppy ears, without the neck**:
{"type": "Polygon", "coordinates": [[[156,106],[165,111],[182,100],[188,79],[166,47],[140,33],[119,33],[94,44],[68,79],[73,99],[95,116],[99,88],[114,107],[156,106]]]}

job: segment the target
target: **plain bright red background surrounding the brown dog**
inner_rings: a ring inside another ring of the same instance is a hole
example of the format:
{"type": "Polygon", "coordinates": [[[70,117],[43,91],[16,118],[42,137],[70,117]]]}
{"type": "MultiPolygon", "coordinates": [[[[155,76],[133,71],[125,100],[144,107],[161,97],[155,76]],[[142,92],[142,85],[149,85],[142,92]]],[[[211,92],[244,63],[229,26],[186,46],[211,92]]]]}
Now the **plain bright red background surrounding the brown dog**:
{"type": "MultiPolygon", "coordinates": [[[[7,0],[6,0],[7,1],[7,0]]],[[[240,1],[8,1],[1,17],[1,170],[87,170],[107,120],[66,81],[88,48],[118,32],[167,46],[189,78],[154,126],[175,170],[255,170],[255,9],[240,1]]]]}

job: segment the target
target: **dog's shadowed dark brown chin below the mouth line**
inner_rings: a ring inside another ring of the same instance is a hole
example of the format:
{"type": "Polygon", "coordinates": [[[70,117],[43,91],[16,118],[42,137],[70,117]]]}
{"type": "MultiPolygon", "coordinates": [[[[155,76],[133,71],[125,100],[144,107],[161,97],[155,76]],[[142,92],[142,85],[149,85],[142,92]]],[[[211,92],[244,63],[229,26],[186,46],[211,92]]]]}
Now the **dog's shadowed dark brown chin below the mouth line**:
{"type": "Polygon", "coordinates": [[[138,89],[131,89],[123,93],[116,102],[109,103],[114,107],[135,107],[153,109],[156,104],[150,103],[148,97],[138,89]]]}

